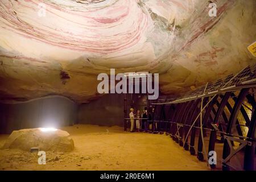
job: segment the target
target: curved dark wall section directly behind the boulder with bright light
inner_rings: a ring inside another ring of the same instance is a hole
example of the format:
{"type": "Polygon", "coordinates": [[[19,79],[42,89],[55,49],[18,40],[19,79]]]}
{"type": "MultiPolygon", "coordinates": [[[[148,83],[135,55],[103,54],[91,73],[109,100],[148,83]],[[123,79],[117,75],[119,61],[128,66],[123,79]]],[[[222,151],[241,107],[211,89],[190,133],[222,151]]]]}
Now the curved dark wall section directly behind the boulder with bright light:
{"type": "Polygon", "coordinates": [[[66,97],[51,96],[16,103],[0,103],[0,134],[34,127],[71,126],[77,122],[77,104],[66,97]]]}

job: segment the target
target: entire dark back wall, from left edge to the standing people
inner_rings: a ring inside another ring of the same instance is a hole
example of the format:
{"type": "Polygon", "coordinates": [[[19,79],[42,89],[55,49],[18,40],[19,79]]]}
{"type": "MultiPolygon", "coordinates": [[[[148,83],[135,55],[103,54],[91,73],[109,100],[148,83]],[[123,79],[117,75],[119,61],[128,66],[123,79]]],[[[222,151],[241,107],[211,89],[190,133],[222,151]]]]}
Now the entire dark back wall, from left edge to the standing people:
{"type": "Polygon", "coordinates": [[[123,126],[123,97],[123,94],[106,94],[80,105],[62,96],[16,104],[0,103],[0,134],[35,127],[72,126],[75,123],[123,126]]]}

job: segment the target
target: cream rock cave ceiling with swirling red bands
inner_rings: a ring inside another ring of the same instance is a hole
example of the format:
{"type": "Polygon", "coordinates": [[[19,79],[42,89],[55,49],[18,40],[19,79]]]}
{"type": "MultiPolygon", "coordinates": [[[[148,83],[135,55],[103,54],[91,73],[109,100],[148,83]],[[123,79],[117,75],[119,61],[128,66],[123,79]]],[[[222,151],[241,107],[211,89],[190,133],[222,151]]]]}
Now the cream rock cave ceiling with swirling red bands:
{"type": "Polygon", "coordinates": [[[97,75],[159,73],[181,94],[256,59],[256,1],[1,0],[0,100],[97,97],[97,75]]]}

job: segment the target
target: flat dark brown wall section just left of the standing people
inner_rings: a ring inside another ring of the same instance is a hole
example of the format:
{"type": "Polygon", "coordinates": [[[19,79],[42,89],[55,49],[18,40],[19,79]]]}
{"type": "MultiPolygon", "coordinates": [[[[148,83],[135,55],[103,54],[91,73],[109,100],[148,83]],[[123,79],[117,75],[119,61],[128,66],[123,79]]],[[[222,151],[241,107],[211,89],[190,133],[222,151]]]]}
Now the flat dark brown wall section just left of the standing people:
{"type": "Polygon", "coordinates": [[[123,126],[123,94],[106,94],[89,104],[81,104],[78,110],[81,124],[123,126]]]}

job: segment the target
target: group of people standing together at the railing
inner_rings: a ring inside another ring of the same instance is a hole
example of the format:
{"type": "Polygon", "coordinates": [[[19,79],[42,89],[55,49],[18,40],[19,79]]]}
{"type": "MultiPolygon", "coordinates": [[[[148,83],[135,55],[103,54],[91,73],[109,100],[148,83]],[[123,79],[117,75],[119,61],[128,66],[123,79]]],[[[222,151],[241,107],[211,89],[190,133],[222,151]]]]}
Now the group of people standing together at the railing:
{"type": "Polygon", "coordinates": [[[142,113],[140,110],[134,114],[134,109],[130,109],[130,122],[131,122],[131,132],[133,131],[147,131],[147,120],[150,118],[150,115],[147,113],[147,109],[143,109],[142,113]]]}

